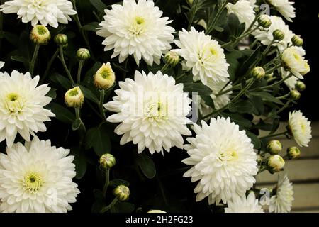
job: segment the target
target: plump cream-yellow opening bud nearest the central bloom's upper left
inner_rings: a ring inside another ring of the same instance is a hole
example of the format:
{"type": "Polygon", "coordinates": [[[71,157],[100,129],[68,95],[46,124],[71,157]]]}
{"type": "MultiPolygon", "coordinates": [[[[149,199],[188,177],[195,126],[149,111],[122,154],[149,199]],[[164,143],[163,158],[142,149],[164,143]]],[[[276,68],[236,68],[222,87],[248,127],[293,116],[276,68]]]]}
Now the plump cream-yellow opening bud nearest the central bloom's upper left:
{"type": "Polygon", "coordinates": [[[94,85],[99,89],[109,89],[115,83],[116,77],[110,65],[110,62],[103,65],[94,75],[94,85]]]}

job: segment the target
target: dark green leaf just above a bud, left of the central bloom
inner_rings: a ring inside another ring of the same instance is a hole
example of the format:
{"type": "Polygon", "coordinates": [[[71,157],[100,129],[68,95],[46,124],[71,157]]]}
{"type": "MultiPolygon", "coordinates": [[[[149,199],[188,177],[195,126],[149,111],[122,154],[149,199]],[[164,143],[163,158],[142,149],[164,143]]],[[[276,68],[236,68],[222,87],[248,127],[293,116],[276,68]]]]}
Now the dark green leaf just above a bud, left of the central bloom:
{"type": "Polygon", "coordinates": [[[93,148],[96,155],[101,157],[105,153],[111,151],[111,140],[108,135],[108,129],[101,125],[97,128],[90,128],[86,133],[85,148],[93,148]]]}

